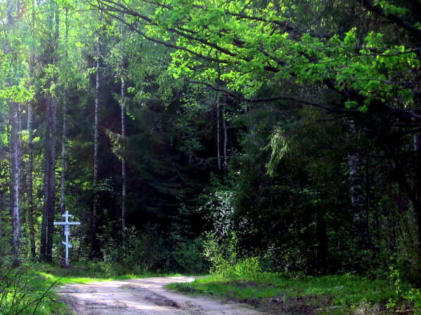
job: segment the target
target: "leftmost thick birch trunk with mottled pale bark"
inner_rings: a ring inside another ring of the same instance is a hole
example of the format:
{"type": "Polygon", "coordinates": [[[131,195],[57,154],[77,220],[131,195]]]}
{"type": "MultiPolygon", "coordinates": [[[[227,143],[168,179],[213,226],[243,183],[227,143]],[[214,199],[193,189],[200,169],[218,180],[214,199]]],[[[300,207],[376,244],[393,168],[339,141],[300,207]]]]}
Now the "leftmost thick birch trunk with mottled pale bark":
{"type": "Polygon", "coordinates": [[[12,257],[13,265],[20,264],[20,148],[19,148],[19,107],[18,103],[10,103],[11,112],[11,219],[12,219],[12,257]]]}

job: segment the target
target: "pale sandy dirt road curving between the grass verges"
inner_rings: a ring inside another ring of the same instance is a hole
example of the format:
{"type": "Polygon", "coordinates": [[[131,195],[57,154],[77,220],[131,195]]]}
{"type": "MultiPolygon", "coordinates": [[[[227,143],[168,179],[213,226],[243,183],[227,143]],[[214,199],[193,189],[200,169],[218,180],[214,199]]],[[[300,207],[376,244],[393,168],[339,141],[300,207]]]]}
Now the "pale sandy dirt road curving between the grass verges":
{"type": "Polygon", "coordinates": [[[60,287],[59,294],[79,315],[263,315],[244,304],[182,295],[164,288],[168,283],[193,280],[172,276],[69,284],[60,287]]]}

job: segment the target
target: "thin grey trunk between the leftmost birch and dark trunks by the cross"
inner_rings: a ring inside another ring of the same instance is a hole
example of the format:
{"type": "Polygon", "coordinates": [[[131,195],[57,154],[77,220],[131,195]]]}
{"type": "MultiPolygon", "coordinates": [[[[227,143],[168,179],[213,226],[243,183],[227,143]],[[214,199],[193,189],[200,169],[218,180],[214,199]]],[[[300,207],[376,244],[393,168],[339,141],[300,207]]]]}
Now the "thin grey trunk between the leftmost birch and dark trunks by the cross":
{"type": "Polygon", "coordinates": [[[34,173],[34,130],[32,129],[32,102],[28,104],[27,110],[27,130],[28,130],[28,170],[27,170],[27,196],[28,196],[28,224],[30,229],[30,248],[32,258],[36,257],[35,251],[35,231],[34,231],[34,187],[32,175],[34,173]]]}

